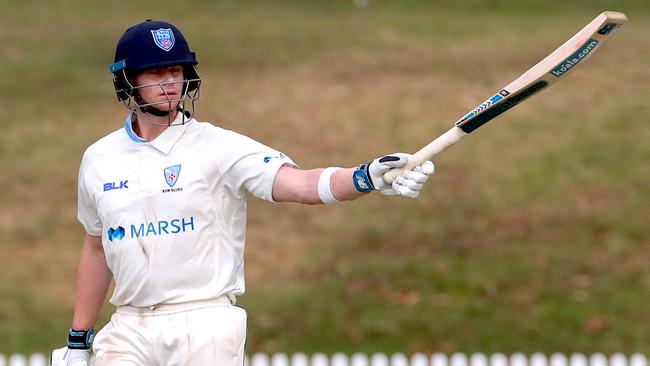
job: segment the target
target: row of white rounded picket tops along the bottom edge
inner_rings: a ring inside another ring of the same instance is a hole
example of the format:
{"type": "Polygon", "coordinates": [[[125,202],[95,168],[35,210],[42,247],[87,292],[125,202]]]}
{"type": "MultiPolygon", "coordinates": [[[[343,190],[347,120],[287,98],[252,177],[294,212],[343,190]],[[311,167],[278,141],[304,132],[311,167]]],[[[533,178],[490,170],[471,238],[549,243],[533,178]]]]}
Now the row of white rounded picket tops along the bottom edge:
{"type": "MultiPolygon", "coordinates": [[[[383,353],[372,355],[364,353],[355,353],[353,355],[343,353],[333,355],[324,353],[315,353],[313,355],[304,353],[292,355],[255,353],[247,357],[246,366],[650,366],[648,361],[648,357],[640,353],[631,355],[622,353],[611,355],[602,353],[591,355],[581,353],[571,355],[562,353],[553,353],[551,355],[514,353],[509,356],[502,353],[490,355],[483,353],[469,355],[464,353],[451,355],[416,353],[411,356],[403,353],[392,355],[383,353]]],[[[29,356],[19,354],[5,356],[0,354],[0,366],[47,366],[47,364],[48,358],[42,353],[29,356]]]]}

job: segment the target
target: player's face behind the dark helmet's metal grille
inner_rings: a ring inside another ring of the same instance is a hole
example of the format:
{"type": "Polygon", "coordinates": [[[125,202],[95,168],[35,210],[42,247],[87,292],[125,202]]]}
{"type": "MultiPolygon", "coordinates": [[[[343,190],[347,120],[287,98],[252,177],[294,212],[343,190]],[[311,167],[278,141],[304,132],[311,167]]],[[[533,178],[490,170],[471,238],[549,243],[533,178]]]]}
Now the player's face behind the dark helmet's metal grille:
{"type": "Polygon", "coordinates": [[[183,66],[145,70],[135,76],[133,83],[140,87],[138,92],[146,104],[165,111],[174,109],[183,92],[183,66]]]}

